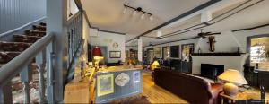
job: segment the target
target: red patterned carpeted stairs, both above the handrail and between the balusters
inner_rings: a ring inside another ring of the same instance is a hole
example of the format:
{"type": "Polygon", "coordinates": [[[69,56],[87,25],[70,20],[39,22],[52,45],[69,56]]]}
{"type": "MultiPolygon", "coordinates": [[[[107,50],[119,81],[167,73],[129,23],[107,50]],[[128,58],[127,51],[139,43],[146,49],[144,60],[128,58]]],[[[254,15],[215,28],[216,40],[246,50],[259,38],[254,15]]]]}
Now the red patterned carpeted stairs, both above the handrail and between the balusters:
{"type": "MultiPolygon", "coordinates": [[[[40,22],[39,25],[33,25],[32,30],[24,30],[23,34],[14,34],[11,41],[0,41],[0,68],[45,35],[46,23],[40,22]]],[[[30,69],[33,73],[33,79],[30,81],[31,102],[39,102],[39,95],[37,95],[39,92],[39,72],[34,60],[30,64],[30,69]]],[[[13,103],[23,102],[22,89],[23,84],[18,74],[12,80],[13,103]]]]}

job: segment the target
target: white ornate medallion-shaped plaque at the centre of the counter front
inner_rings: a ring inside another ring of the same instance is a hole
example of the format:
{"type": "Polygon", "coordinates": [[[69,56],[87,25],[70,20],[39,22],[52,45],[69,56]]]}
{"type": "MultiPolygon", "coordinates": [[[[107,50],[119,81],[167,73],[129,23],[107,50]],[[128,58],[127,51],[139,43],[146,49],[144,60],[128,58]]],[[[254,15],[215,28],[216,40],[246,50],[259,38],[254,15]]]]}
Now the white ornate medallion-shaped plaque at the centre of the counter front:
{"type": "Polygon", "coordinates": [[[115,83],[121,87],[125,86],[126,83],[128,83],[129,81],[130,81],[130,76],[125,73],[118,74],[117,77],[115,78],[115,83]]]}

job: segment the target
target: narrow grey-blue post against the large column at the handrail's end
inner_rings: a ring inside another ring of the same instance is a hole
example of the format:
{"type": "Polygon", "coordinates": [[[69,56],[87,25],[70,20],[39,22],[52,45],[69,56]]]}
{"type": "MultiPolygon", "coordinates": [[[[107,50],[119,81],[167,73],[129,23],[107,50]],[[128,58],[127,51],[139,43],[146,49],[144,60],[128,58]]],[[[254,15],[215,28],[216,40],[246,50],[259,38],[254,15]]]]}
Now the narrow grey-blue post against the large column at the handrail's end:
{"type": "Polygon", "coordinates": [[[53,59],[54,54],[52,53],[52,43],[50,43],[47,47],[46,52],[46,60],[47,60],[47,100],[49,104],[54,103],[54,77],[53,77],[53,59]]]}

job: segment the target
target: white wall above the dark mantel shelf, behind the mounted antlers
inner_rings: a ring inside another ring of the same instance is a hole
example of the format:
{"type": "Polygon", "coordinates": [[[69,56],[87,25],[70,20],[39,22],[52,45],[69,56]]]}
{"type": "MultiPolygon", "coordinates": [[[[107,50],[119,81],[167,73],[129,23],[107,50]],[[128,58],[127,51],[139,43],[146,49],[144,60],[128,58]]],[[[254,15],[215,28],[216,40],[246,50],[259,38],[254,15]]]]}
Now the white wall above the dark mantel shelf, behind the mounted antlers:
{"type": "MultiPolygon", "coordinates": [[[[247,50],[247,37],[269,34],[269,26],[255,29],[255,30],[243,30],[243,31],[221,31],[221,35],[215,35],[215,51],[214,52],[236,52],[239,47],[242,53],[246,53],[247,50]]],[[[195,52],[200,47],[203,53],[209,53],[208,39],[199,39],[195,52]]]]}

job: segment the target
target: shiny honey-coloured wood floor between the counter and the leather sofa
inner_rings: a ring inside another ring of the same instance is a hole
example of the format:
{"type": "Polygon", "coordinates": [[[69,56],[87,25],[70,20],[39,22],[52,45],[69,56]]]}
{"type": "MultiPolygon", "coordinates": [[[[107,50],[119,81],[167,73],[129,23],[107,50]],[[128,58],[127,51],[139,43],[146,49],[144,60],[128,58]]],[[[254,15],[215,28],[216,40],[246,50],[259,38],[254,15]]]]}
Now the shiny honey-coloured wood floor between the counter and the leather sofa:
{"type": "Polygon", "coordinates": [[[187,103],[175,94],[154,84],[152,75],[143,73],[143,93],[151,103],[187,103]]]}

